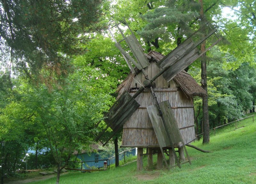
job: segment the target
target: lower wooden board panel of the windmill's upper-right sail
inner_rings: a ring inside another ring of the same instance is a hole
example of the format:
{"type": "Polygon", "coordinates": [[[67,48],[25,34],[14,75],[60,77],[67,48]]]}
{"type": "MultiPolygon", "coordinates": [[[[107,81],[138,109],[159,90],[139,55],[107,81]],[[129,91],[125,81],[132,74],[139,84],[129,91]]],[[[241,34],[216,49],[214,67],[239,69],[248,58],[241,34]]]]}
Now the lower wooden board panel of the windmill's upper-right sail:
{"type": "Polygon", "coordinates": [[[194,48],[187,55],[182,57],[176,63],[172,64],[170,68],[164,72],[163,76],[167,82],[170,82],[176,75],[178,75],[182,70],[187,68],[191,63],[193,63],[199,55],[197,48],[194,48]]]}

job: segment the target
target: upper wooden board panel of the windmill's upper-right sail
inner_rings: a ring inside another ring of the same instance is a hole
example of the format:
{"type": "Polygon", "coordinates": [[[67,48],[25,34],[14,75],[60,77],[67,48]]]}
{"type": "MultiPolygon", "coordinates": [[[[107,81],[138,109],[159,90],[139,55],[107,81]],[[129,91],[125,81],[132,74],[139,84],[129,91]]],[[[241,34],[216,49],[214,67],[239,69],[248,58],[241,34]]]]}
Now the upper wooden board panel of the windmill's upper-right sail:
{"type": "Polygon", "coordinates": [[[184,54],[189,52],[195,46],[193,40],[188,38],[184,42],[182,42],[178,47],[172,50],[168,55],[166,55],[163,59],[161,59],[157,66],[161,69],[164,69],[167,66],[172,65],[177,60],[180,59],[184,54]]]}

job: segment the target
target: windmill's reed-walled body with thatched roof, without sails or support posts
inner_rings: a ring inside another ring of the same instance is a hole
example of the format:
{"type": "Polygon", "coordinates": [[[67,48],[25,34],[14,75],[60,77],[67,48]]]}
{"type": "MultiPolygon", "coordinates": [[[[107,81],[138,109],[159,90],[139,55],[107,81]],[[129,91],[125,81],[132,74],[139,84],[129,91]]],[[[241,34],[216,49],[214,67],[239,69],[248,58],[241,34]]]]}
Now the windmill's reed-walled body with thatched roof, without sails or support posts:
{"type": "MultiPolygon", "coordinates": [[[[153,58],[150,65],[145,68],[147,75],[150,77],[158,72],[159,69],[156,64],[164,56],[154,51],[151,51],[148,55],[153,58]]],[[[124,80],[124,83],[120,85],[118,92],[121,94],[122,91],[128,91],[133,95],[141,87],[143,80],[145,79],[142,72],[138,74],[131,73],[124,80]]],[[[185,71],[178,74],[169,82],[166,82],[163,76],[160,76],[154,83],[154,91],[158,101],[169,100],[184,143],[190,143],[195,139],[192,98],[195,95],[205,95],[205,91],[185,71]],[[189,92],[182,91],[184,88],[189,92]]],[[[136,101],[140,104],[140,107],[124,123],[122,147],[159,148],[157,137],[147,111],[148,106],[155,104],[151,92],[144,90],[136,98],[136,101]]],[[[174,143],[174,145],[175,147],[180,147],[182,144],[174,143]]],[[[168,148],[171,147],[171,145],[166,146],[168,148]]]]}

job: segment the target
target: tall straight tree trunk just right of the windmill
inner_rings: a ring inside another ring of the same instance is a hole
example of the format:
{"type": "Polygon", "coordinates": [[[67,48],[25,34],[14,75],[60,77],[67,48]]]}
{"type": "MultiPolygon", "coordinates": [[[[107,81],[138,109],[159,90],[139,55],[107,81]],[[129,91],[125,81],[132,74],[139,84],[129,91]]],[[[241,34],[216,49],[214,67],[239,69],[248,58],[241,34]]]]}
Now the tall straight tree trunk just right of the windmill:
{"type": "MultiPolygon", "coordinates": [[[[200,9],[200,16],[202,17],[202,24],[204,24],[204,6],[203,0],[198,0],[201,9],[200,9]]],[[[205,41],[201,43],[201,52],[204,52],[205,49],[205,41]]],[[[210,126],[209,126],[209,114],[208,114],[208,95],[207,95],[207,77],[206,77],[206,54],[201,56],[201,78],[202,78],[202,87],[206,91],[206,96],[203,97],[203,144],[210,142],[210,126]]]]}

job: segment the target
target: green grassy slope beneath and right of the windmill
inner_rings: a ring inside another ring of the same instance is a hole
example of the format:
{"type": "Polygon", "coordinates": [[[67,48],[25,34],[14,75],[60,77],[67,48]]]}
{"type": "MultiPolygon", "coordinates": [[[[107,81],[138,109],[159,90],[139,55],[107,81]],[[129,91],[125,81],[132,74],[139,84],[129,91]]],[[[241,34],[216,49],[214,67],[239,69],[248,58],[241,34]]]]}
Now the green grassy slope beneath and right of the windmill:
{"type": "MultiPolygon", "coordinates": [[[[254,113],[255,114],[255,113],[254,113]]],[[[251,115],[251,114],[250,114],[251,115]]],[[[216,130],[216,136],[211,135],[211,143],[194,145],[210,150],[203,153],[188,147],[192,165],[184,164],[181,169],[170,171],[136,172],[136,162],[113,168],[105,172],[68,173],[61,176],[60,184],[256,184],[256,117],[216,130]],[[242,127],[242,128],[241,128],[242,127]],[[153,180],[138,180],[138,175],[148,178],[159,173],[153,180]]],[[[154,156],[156,160],[156,157],[154,156]]],[[[147,165],[144,159],[144,166],[147,165]]],[[[54,184],[55,178],[33,182],[33,184],[54,184]]],[[[31,183],[32,184],[32,183],[31,183]]]]}

